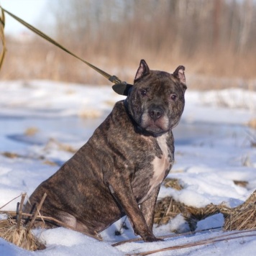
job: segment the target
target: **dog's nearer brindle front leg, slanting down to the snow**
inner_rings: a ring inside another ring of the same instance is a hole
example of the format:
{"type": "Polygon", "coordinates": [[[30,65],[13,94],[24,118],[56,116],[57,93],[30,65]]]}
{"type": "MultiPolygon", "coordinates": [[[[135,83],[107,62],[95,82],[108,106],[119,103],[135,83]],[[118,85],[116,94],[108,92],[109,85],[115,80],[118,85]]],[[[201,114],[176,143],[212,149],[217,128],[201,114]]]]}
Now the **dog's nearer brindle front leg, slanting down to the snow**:
{"type": "Polygon", "coordinates": [[[140,207],[137,205],[136,198],[132,193],[132,186],[129,182],[129,178],[124,178],[124,176],[119,178],[116,178],[116,176],[110,177],[106,180],[106,184],[109,186],[116,201],[122,206],[122,209],[124,209],[129,220],[132,222],[135,231],[140,234],[142,239],[145,242],[158,241],[152,233],[152,229],[150,230],[150,228],[147,227],[145,217],[143,216],[140,207]]]}

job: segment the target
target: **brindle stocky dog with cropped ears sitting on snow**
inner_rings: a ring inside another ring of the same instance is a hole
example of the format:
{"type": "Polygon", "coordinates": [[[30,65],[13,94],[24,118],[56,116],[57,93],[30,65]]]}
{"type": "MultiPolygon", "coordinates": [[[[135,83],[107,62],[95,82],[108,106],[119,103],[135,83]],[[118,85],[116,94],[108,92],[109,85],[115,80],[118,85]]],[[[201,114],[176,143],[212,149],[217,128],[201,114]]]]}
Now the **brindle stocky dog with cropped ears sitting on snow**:
{"type": "Polygon", "coordinates": [[[94,236],[127,215],[145,242],[159,240],[152,233],[155,204],[174,162],[172,129],[184,109],[184,70],[182,65],[173,74],[150,70],[141,60],[127,98],[116,102],[88,142],[36,188],[24,211],[35,211],[47,193],[41,214],[84,234],[94,236]]]}

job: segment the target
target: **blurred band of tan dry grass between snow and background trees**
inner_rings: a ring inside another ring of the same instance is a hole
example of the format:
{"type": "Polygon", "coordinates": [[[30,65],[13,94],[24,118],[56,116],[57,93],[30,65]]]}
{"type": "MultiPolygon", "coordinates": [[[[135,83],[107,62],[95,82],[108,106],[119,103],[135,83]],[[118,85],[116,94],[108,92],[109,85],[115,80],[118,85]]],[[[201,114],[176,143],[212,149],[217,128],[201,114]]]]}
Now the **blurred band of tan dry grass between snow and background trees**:
{"type": "MultiPolygon", "coordinates": [[[[31,80],[31,79],[47,79],[52,81],[66,81],[71,83],[83,83],[83,84],[104,84],[111,85],[109,81],[106,80],[95,70],[84,65],[84,63],[79,62],[72,56],[67,55],[65,52],[61,52],[47,42],[42,42],[37,38],[31,42],[15,42],[12,39],[7,39],[6,44],[8,47],[8,55],[4,61],[4,65],[1,70],[1,77],[4,80],[31,80]],[[31,58],[27,58],[27,52],[31,58]],[[18,54],[19,53],[19,54],[18,54]],[[48,56],[48,57],[47,57],[48,56]],[[49,57],[51,56],[51,57],[49,57]],[[26,69],[21,67],[26,67],[26,69]],[[73,68],[70,68],[73,67],[73,68]]],[[[113,45],[111,45],[112,47],[113,45]]],[[[83,45],[81,45],[83,47],[83,45]]],[[[116,49],[116,45],[115,48],[116,49]]],[[[128,47],[128,46],[127,46],[128,47]]],[[[128,47],[129,48],[129,47],[128,47]]],[[[254,67],[254,62],[251,61],[251,65],[247,65],[248,73],[244,76],[244,73],[237,73],[237,70],[242,70],[244,66],[244,59],[230,55],[227,61],[230,63],[237,62],[237,65],[242,67],[237,67],[235,70],[230,70],[230,65],[226,65],[221,70],[219,68],[223,65],[223,57],[215,57],[215,62],[211,61],[211,66],[205,65],[209,62],[209,56],[200,53],[196,58],[188,58],[182,55],[166,56],[165,52],[168,49],[163,49],[162,53],[157,55],[157,58],[152,55],[152,50],[141,49],[129,49],[130,51],[122,52],[122,58],[116,58],[116,53],[114,49],[111,50],[110,54],[106,54],[104,50],[96,50],[95,52],[86,52],[86,60],[93,63],[97,67],[105,70],[111,75],[118,76],[121,80],[127,81],[128,83],[133,83],[134,75],[136,73],[137,67],[140,63],[141,58],[145,58],[150,68],[157,70],[166,70],[168,72],[173,72],[176,66],[183,64],[186,66],[186,74],[188,76],[188,86],[190,89],[221,89],[232,87],[244,87],[247,88],[248,79],[252,78],[253,70],[250,67],[254,67]],[[140,53],[134,54],[134,52],[139,51],[140,53]],[[107,55],[108,59],[101,58],[101,55],[107,55]],[[137,56],[135,58],[134,56],[137,56]],[[170,65],[172,63],[172,65],[170,65]],[[224,73],[225,70],[225,73],[224,73]],[[237,79],[242,76],[241,79],[237,79]]],[[[70,49],[72,50],[72,48],[70,49]]],[[[78,50],[78,52],[83,52],[83,48],[78,50]]],[[[82,57],[83,57],[82,55],[82,57]]],[[[247,62],[249,60],[247,59],[247,62]]],[[[255,86],[252,86],[250,90],[255,90],[255,86]]],[[[83,116],[83,114],[81,114],[83,116]]],[[[86,114],[87,116],[87,114],[86,114]]]]}

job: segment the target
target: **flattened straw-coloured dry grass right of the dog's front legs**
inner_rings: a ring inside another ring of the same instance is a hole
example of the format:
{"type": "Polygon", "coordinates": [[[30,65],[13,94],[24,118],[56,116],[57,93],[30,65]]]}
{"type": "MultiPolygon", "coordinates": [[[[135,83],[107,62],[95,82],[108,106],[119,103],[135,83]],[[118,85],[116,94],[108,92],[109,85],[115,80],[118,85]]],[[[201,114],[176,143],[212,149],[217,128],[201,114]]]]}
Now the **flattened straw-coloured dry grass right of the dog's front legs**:
{"type": "MultiPolygon", "coordinates": [[[[246,181],[234,180],[239,186],[246,186],[246,181]]],[[[168,179],[165,186],[174,189],[182,189],[178,180],[168,179]]],[[[184,219],[188,222],[191,231],[196,229],[196,224],[201,219],[206,219],[208,216],[221,213],[225,217],[224,230],[243,230],[256,229],[256,191],[244,202],[244,204],[236,208],[229,208],[225,204],[209,204],[202,208],[186,206],[172,197],[167,196],[160,201],[157,201],[155,207],[154,223],[158,225],[167,224],[178,214],[182,214],[184,219]]]]}

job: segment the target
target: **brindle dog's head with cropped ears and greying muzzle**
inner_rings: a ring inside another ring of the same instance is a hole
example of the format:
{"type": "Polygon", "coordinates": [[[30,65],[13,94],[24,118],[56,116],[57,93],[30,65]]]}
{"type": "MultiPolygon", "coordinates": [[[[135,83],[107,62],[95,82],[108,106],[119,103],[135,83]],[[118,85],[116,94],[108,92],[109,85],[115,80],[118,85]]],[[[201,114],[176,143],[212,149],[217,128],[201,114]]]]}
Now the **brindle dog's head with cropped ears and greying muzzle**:
{"type": "Polygon", "coordinates": [[[150,70],[145,60],[140,61],[127,105],[132,118],[143,130],[163,134],[178,124],[187,88],[184,70],[182,65],[173,74],[150,70]]]}

